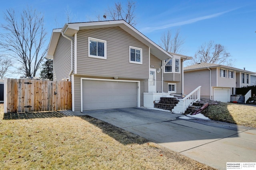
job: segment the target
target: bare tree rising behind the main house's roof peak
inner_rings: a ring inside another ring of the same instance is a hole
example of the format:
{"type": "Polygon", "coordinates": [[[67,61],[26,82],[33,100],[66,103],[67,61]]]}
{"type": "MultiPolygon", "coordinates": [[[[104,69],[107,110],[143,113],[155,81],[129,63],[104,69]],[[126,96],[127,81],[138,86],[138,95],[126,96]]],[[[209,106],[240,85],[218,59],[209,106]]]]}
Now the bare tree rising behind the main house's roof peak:
{"type": "Polygon", "coordinates": [[[134,10],[136,2],[127,0],[127,4],[123,6],[120,2],[115,3],[114,7],[108,7],[105,14],[97,16],[98,21],[102,20],[124,20],[132,26],[136,25],[134,10]]]}

